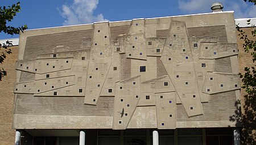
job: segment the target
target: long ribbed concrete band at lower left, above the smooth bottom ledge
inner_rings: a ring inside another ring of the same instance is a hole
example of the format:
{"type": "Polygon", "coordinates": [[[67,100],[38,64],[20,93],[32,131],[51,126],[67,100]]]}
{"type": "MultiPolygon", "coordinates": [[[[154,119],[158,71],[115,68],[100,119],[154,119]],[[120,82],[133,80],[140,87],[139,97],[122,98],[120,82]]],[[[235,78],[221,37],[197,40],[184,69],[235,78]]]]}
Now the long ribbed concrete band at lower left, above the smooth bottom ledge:
{"type": "Polygon", "coordinates": [[[84,104],[84,97],[34,97],[17,95],[14,114],[61,116],[113,116],[114,97],[100,97],[98,104],[84,104]]]}

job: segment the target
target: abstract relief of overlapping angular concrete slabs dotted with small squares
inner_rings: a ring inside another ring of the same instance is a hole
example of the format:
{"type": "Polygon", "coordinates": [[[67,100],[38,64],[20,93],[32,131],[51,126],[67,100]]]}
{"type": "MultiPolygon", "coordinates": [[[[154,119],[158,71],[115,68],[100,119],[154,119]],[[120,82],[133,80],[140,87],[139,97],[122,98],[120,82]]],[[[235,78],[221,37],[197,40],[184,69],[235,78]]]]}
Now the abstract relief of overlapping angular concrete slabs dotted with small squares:
{"type": "Polygon", "coordinates": [[[189,22],[134,19],[62,33],[39,29],[16,63],[23,81],[14,89],[14,113],[86,116],[93,123],[113,117],[112,129],[228,121],[240,89],[236,44],[228,43],[225,22],[189,22]]]}

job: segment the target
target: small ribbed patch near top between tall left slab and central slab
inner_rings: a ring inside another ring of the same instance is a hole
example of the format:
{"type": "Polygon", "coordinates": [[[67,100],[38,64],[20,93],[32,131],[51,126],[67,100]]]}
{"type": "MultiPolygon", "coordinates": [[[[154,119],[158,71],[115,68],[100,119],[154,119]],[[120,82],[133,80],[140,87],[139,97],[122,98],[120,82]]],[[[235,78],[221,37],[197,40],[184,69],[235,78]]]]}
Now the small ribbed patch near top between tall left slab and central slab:
{"type": "Polygon", "coordinates": [[[110,27],[110,37],[114,38],[124,38],[129,30],[130,25],[120,25],[115,27],[110,27]]]}

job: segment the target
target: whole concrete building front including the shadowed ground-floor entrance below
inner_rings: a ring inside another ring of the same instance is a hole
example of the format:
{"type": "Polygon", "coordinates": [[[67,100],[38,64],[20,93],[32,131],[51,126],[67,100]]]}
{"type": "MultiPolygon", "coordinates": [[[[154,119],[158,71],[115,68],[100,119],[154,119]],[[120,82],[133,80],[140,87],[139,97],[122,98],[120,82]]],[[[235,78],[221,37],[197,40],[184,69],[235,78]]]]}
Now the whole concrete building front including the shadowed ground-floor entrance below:
{"type": "Polygon", "coordinates": [[[21,144],[237,144],[233,12],[24,31],[14,93],[21,144]]]}

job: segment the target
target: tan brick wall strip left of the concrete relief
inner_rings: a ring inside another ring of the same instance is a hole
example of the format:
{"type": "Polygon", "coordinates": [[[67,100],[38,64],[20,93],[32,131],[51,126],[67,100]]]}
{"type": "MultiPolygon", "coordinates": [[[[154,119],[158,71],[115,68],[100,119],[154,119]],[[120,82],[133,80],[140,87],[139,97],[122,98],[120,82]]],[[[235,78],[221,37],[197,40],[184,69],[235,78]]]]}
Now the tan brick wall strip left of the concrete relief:
{"type": "Polygon", "coordinates": [[[15,82],[15,62],[18,55],[18,46],[11,47],[13,53],[9,54],[0,67],[7,71],[0,82],[0,144],[14,144],[15,130],[11,129],[13,122],[13,87],[15,82]]]}

